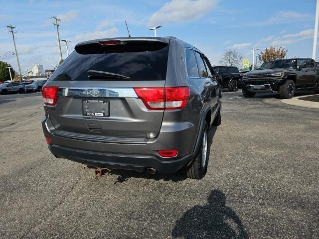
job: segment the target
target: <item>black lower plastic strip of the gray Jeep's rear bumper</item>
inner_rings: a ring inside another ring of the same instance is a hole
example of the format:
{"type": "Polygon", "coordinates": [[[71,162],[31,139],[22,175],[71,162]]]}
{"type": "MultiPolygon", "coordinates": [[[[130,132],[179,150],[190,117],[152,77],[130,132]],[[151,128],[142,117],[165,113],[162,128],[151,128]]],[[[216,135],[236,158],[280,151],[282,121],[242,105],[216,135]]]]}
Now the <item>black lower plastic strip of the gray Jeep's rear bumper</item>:
{"type": "Polygon", "coordinates": [[[187,164],[192,155],[179,159],[160,160],[152,155],[129,155],[94,152],[82,149],[49,145],[51,153],[57,158],[66,158],[93,167],[129,169],[142,172],[145,168],[155,168],[160,173],[173,173],[187,164]]]}

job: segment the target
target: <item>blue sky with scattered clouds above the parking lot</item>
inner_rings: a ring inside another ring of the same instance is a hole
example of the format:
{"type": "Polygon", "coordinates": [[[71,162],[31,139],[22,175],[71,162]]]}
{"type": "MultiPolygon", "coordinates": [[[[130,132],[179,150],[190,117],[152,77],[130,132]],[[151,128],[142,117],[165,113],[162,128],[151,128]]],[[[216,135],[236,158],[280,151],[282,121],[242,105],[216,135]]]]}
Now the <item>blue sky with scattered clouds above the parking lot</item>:
{"type": "MultiPolygon", "coordinates": [[[[3,1],[3,0],[0,0],[3,1]]],[[[311,57],[316,0],[10,0],[0,9],[0,54],[13,51],[6,25],[16,27],[21,71],[33,64],[52,69],[59,62],[53,19],[61,18],[60,37],[72,51],[80,41],[127,36],[175,36],[219,64],[234,48],[252,61],[251,49],[284,46],[288,57],[311,57]]],[[[63,58],[66,57],[61,42],[63,58]]],[[[318,53],[319,54],[319,53],[318,53]]],[[[317,55],[318,55],[317,54],[317,55]]],[[[17,70],[15,56],[0,57],[17,70]]]]}

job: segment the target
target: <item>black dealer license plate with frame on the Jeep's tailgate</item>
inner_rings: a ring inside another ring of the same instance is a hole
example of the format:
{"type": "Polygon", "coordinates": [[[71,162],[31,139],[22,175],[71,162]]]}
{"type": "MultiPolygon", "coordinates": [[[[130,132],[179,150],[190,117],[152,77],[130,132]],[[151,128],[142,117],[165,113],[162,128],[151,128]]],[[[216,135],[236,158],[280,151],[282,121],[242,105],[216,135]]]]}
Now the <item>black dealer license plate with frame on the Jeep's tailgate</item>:
{"type": "Polygon", "coordinates": [[[83,101],[83,115],[95,117],[109,117],[109,101],[83,101]]]}

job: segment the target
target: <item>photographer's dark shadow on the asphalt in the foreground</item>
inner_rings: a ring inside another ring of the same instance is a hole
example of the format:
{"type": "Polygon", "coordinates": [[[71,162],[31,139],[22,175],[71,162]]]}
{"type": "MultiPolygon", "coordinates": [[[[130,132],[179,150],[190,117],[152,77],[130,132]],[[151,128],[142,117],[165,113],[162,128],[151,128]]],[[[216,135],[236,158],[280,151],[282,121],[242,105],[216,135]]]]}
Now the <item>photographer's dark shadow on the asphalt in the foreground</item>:
{"type": "Polygon", "coordinates": [[[184,239],[247,239],[236,213],[226,206],[226,196],[213,190],[205,206],[196,205],[177,220],[172,238],[184,239]]]}

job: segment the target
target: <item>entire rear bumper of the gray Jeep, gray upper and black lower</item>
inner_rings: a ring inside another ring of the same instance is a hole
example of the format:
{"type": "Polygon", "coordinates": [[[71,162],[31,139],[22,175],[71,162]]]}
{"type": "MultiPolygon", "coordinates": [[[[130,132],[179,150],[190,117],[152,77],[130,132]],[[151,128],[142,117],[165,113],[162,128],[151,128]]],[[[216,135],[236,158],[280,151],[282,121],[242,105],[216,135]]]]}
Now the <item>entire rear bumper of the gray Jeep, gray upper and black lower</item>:
{"type": "Polygon", "coordinates": [[[155,168],[160,173],[172,173],[193,159],[198,125],[190,122],[162,123],[159,135],[145,143],[98,142],[59,136],[48,116],[42,119],[49,149],[57,158],[66,158],[93,167],[132,169],[143,171],[155,168]],[[177,149],[176,157],[163,158],[158,150],[177,149]]]}

